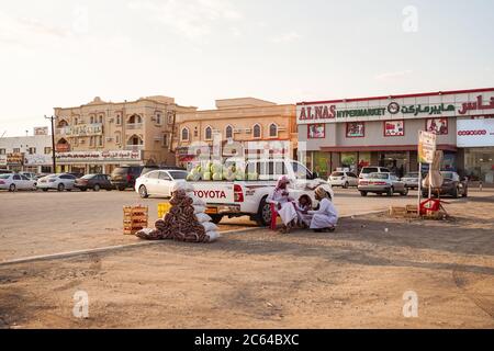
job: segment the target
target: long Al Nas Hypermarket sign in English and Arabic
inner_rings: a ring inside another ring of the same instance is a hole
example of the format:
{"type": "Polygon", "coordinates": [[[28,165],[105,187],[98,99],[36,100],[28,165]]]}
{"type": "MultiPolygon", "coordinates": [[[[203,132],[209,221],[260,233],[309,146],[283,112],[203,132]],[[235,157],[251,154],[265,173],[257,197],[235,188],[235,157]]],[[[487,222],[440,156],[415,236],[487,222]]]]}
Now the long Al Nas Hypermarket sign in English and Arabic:
{"type": "Polygon", "coordinates": [[[479,116],[494,114],[494,91],[350,102],[299,103],[297,124],[479,116]]]}

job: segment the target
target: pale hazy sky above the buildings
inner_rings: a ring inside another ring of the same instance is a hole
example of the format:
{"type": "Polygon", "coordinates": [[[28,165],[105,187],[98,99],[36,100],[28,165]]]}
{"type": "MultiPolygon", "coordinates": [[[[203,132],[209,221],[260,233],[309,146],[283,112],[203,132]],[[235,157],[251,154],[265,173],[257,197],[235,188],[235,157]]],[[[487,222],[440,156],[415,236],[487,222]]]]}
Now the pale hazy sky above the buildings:
{"type": "Polygon", "coordinates": [[[492,0],[0,0],[0,137],[53,107],[494,87],[492,0]]]}

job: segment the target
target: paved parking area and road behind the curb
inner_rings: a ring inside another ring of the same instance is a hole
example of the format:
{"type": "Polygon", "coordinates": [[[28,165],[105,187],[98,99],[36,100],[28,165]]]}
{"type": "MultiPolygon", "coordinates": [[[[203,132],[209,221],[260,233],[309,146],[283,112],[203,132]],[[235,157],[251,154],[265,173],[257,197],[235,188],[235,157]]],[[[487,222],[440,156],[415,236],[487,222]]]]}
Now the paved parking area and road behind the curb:
{"type": "MultiPolygon", "coordinates": [[[[405,197],[361,197],[355,189],[335,192],[341,216],[416,201],[416,192],[405,197]]],[[[153,224],[157,219],[157,204],[164,201],[142,200],[132,191],[0,192],[0,261],[136,242],[135,237],[122,235],[122,207],[148,205],[149,223],[153,224]]],[[[221,230],[254,226],[247,217],[226,218],[221,230]]]]}

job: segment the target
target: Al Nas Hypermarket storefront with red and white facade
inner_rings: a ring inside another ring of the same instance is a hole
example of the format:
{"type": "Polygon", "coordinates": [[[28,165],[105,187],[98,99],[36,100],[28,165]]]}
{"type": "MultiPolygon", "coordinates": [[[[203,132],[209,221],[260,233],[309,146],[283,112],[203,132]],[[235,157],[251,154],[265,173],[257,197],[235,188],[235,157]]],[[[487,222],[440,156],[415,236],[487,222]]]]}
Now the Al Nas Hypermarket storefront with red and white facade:
{"type": "MultiPolygon", "coordinates": [[[[494,88],[296,104],[299,150],[323,177],[337,168],[383,166],[398,174],[417,171],[419,131],[438,135],[442,168],[465,171],[457,145],[457,118],[494,115],[494,88]]],[[[301,155],[301,157],[303,157],[301,155]]]]}

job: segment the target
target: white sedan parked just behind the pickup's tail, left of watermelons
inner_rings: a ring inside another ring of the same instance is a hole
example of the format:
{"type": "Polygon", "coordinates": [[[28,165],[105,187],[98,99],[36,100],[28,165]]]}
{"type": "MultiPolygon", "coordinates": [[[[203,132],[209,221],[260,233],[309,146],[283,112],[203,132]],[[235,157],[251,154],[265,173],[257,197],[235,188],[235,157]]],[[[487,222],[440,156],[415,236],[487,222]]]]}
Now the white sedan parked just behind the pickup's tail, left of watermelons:
{"type": "Polygon", "coordinates": [[[180,170],[156,170],[135,180],[135,191],[145,199],[148,196],[170,197],[177,182],[184,182],[187,172],[180,170]]]}

